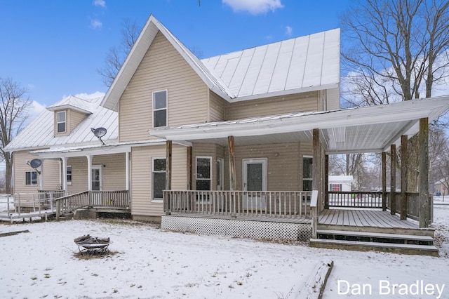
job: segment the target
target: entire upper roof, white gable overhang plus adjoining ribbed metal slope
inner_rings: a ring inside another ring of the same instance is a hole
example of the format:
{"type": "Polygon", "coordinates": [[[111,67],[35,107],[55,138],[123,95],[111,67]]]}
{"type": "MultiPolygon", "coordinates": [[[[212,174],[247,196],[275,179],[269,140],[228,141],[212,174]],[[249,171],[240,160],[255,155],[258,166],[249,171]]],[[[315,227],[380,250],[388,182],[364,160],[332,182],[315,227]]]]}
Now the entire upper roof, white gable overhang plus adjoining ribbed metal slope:
{"type": "Polygon", "coordinates": [[[340,85],[340,29],[199,60],[150,15],[102,106],[118,110],[121,94],[159,31],[208,88],[229,102],[338,88],[340,85]]]}

